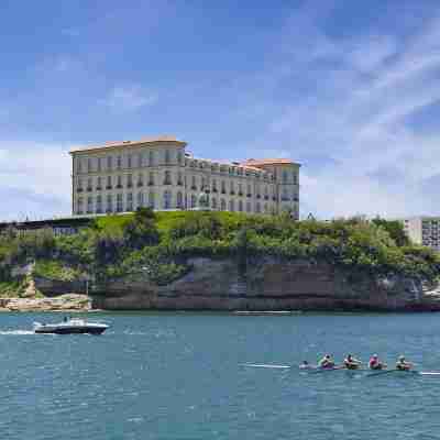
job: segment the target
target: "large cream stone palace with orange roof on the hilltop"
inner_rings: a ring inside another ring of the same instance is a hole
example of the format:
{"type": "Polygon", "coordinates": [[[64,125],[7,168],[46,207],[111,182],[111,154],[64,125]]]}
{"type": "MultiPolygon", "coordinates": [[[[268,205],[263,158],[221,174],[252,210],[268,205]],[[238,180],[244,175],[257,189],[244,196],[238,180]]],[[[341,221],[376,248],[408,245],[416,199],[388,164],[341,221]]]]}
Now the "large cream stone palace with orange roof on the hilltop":
{"type": "Polygon", "coordinates": [[[186,145],[162,136],[73,150],[73,215],[197,209],[205,194],[212,210],[288,211],[298,219],[299,164],[222,163],[196,158],[186,145]]]}

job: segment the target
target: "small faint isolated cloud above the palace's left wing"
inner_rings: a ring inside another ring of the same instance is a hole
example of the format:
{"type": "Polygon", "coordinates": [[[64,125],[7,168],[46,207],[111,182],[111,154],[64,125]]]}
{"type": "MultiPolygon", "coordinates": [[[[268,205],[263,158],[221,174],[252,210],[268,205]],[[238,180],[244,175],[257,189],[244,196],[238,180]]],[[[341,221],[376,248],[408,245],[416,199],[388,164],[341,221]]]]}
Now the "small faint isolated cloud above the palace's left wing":
{"type": "Polygon", "coordinates": [[[140,86],[114,87],[101,102],[118,112],[136,111],[142,107],[153,106],[157,97],[140,86]]]}

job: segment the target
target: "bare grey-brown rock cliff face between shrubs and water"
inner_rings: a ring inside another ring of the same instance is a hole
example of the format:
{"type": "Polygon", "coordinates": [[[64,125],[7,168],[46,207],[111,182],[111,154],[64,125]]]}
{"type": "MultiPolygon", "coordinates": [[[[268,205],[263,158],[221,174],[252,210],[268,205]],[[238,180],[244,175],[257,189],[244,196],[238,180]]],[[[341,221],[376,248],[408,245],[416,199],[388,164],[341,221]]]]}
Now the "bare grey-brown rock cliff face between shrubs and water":
{"type": "Polygon", "coordinates": [[[142,274],[96,285],[92,307],[111,310],[440,310],[440,293],[418,279],[381,278],[342,272],[330,264],[274,257],[254,258],[245,264],[233,258],[191,258],[188,263],[191,270],[165,286],[152,283],[142,274]]]}

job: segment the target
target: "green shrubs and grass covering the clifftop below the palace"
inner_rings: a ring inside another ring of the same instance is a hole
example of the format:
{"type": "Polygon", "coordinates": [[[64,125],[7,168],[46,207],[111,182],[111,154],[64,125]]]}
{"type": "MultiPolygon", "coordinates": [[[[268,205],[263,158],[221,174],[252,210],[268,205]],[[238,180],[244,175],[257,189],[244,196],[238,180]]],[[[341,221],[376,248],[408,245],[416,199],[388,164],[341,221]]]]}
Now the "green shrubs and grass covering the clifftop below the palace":
{"type": "Polygon", "coordinates": [[[53,279],[89,273],[99,280],[142,273],[167,284],[190,270],[193,256],[232,256],[240,264],[258,256],[306,258],[349,272],[428,280],[440,274],[439,255],[411,245],[396,221],[295,222],[288,216],[141,209],[101,217],[70,237],[7,231],[0,235],[0,280],[8,280],[8,267],[34,258],[35,272],[53,279]]]}

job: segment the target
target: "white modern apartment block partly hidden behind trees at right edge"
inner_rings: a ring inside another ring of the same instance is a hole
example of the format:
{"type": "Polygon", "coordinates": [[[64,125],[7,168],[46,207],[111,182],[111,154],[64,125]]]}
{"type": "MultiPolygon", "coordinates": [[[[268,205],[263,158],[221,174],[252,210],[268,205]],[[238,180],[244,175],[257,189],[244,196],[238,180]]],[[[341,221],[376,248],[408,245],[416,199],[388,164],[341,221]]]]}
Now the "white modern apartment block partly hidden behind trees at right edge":
{"type": "Polygon", "coordinates": [[[402,221],[413,243],[440,251],[440,217],[413,217],[402,221]]]}

